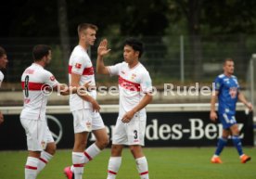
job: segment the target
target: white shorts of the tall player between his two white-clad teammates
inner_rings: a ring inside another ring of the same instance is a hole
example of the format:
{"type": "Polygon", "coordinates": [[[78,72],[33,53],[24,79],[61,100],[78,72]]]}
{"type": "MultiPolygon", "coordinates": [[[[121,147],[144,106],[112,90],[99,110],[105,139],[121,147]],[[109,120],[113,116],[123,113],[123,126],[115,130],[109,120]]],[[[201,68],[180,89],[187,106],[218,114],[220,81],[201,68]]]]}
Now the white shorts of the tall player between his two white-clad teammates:
{"type": "Polygon", "coordinates": [[[73,110],[72,114],[75,134],[105,128],[100,114],[92,111],[92,109],[73,110]]]}

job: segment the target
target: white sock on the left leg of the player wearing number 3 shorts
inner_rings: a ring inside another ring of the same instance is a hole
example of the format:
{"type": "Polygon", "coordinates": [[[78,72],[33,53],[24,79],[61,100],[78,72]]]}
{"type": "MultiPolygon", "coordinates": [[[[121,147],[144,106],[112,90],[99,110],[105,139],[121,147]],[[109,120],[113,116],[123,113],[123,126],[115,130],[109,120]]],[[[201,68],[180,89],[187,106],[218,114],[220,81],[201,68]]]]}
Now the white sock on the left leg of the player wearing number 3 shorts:
{"type": "Polygon", "coordinates": [[[108,178],[115,179],[122,163],[122,157],[110,157],[108,166],[108,178]]]}

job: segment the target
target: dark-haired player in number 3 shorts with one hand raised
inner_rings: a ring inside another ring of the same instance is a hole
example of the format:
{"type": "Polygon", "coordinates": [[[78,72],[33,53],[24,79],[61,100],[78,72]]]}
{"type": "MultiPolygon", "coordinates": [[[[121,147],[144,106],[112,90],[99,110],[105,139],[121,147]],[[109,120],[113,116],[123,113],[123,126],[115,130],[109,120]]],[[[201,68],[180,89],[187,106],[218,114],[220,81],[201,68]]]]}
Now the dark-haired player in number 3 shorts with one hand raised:
{"type": "Polygon", "coordinates": [[[148,71],[139,62],[143,44],[128,38],[123,45],[122,63],[106,67],[103,56],[109,53],[104,39],[97,49],[96,70],[100,74],[119,76],[120,108],[114,129],[108,179],[116,178],[122,163],[123,145],[128,145],[134,156],[140,178],[148,179],[147,159],[142,151],[146,130],[147,104],[152,100],[152,84],[148,71]]]}

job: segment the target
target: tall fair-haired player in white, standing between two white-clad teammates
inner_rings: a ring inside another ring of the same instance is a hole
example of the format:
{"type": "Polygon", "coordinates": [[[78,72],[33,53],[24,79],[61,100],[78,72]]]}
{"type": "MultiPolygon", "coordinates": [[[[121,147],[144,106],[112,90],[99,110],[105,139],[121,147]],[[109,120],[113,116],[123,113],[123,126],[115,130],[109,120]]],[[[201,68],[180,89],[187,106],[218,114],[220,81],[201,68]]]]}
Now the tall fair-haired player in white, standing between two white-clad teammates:
{"type": "MultiPolygon", "coordinates": [[[[97,27],[93,24],[82,23],[78,26],[79,44],[73,49],[69,62],[71,86],[89,82],[92,86],[96,85],[93,64],[87,53],[89,47],[95,44],[96,31],[97,27]]],[[[75,141],[72,151],[72,166],[64,169],[68,179],[82,179],[84,164],[93,160],[109,144],[109,136],[99,114],[100,107],[96,102],[96,90],[91,89],[88,93],[87,101],[83,101],[77,95],[70,96],[75,141]],[[86,148],[90,132],[95,134],[96,142],[86,148]]]]}

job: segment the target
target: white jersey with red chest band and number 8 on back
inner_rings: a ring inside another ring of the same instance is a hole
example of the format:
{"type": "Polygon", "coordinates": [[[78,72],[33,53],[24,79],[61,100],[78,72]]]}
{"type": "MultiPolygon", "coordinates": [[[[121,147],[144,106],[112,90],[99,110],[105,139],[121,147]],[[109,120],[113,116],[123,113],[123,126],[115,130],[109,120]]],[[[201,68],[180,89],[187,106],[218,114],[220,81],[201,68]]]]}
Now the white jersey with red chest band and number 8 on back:
{"type": "Polygon", "coordinates": [[[20,118],[45,120],[47,104],[46,88],[51,90],[58,84],[54,75],[41,65],[32,63],[21,76],[24,103],[20,118]]]}

